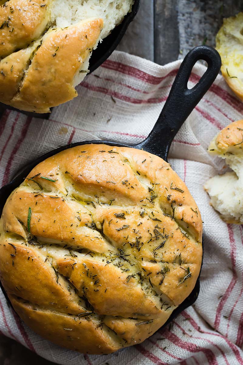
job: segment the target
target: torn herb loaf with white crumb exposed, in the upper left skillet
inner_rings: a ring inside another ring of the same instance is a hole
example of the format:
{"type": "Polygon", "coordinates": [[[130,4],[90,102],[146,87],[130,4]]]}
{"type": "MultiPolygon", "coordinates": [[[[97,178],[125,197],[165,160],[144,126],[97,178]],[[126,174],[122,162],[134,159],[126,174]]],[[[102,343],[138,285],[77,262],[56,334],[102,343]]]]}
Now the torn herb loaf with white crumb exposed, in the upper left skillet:
{"type": "Polygon", "coordinates": [[[46,113],[78,96],[99,41],[133,0],[9,0],[0,6],[0,102],[46,113]]]}

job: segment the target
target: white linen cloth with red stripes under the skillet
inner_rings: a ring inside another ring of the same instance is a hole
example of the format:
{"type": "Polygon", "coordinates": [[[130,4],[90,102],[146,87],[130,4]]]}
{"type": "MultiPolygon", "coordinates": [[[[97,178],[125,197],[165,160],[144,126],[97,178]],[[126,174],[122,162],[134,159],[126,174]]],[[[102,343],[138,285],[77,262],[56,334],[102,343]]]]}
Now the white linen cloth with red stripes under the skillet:
{"type": "MultiPolygon", "coordinates": [[[[135,144],[148,136],[181,61],[159,66],[114,52],[78,86],[79,96],[54,108],[49,120],[6,111],[0,121],[0,186],[21,166],[71,142],[109,139],[135,144]]],[[[196,64],[192,87],[205,72],[196,64]]],[[[204,262],[196,303],[141,345],[107,356],[58,347],[32,332],[0,292],[0,331],[63,365],[243,365],[243,228],[224,223],[209,205],[205,181],[224,171],[208,155],[211,139],[242,118],[243,104],[218,76],[172,143],[169,162],[187,184],[204,221],[204,262]]],[[[85,334],[84,334],[85,336],[85,334]]]]}

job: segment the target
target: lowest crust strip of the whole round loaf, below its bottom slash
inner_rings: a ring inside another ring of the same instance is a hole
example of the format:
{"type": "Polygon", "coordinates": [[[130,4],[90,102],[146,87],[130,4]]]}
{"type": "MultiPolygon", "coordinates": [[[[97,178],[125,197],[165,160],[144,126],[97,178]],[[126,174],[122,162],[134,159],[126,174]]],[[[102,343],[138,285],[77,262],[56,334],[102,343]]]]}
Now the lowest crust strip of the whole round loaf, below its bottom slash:
{"type": "Polygon", "coordinates": [[[39,310],[38,306],[13,299],[13,306],[30,328],[56,343],[81,353],[112,353],[125,341],[93,315],[92,320],[62,312],[39,310]]]}

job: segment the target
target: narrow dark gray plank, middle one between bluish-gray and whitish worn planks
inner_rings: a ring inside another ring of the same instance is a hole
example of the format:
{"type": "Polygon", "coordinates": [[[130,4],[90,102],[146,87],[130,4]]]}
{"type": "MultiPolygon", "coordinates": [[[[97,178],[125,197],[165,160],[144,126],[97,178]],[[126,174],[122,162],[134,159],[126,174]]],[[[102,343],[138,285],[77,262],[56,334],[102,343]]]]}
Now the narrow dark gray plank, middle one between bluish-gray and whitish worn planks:
{"type": "Polygon", "coordinates": [[[178,1],[154,0],[154,61],[160,65],[175,61],[179,55],[178,1]]]}

